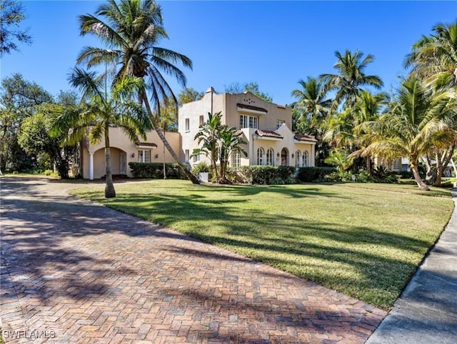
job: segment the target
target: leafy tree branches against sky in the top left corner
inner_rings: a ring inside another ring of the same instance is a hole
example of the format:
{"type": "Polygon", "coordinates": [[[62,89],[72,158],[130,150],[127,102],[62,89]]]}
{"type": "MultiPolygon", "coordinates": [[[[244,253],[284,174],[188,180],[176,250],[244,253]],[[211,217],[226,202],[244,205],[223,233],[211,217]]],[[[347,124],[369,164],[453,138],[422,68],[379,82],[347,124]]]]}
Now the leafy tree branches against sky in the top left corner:
{"type": "Polygon", "coordinates": [[[26,19],[21,1],[0,0],[0,57],[19,51],[16,41],[31,44],[29,29],[21,29],[19,24],[26,19]]]}

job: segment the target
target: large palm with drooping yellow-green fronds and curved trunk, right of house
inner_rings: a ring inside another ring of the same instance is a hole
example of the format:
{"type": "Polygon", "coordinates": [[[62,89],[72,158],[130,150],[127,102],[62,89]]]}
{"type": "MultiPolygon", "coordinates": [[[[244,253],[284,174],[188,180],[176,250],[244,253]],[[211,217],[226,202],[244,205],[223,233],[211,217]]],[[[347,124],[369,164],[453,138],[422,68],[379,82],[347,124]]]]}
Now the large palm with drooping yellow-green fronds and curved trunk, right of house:
{"type": "Polygon", "coordinates": [[[427,88],[418,79],[406,79],[388,113],[358,126],[356,131],[363,132],[363,148],[353,156],[406,157],[418,187],[429,190],[419,176],[418,160],[457,142],[451,118],[453,97],[446,88],[427,88]]]}

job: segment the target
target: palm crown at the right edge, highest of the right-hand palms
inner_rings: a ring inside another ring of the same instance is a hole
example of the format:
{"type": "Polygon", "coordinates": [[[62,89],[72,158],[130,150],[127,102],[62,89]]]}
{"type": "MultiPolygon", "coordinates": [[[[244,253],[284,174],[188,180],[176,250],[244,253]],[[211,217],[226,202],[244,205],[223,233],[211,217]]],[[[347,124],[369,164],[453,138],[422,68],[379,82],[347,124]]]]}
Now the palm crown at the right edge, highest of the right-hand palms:
{"type": "Polygon", "coordinates": [[[457,21],[438,24],[435,34],[423,36],[406,56],[404,66],[412,67],[411,74],[423,79],[451,76],[451,85],[457,85],[457,21]]]}

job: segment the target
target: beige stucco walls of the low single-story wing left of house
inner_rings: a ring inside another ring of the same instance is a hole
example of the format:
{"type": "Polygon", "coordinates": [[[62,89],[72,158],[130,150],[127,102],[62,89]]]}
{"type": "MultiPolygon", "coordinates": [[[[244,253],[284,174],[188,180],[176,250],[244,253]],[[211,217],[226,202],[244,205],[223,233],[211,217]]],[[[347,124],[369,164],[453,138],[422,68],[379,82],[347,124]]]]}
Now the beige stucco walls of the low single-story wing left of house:
{"type": "MultiPolygon", "coordinates": [[[[166,139],[169,141],[171,148],[174,149],[176,154],[179,156],[181,149],[181,136],[179,133],[166,133],[166,139]]],[[[131,170],[129,168],[130,162],[138,161],[138,151],[150,149],[151,150],[151,162],[161,163],[174,163],[174,159],[171,157],[169,151],[165,149],[164,145],[157,135],[156,131],[150,131],[146,140],[139,138],[141,143],[156,143],[156,148],[138,148],[135,143],[129,140],[129,137],[121,131],[120,128],[109,128],[109,141],[110,141],[110,153],[111,153],[111,171],[113,174],[121,174],[121,153],[126,154],[126,175],[131,177],[131,170]],[[134,155],[134,156],[133,156],[134,155]],[[156,157],[157,156],[157,157],[156,157]]],[[[83,163],[83,178],[89,178],[89,153],[94,153],[94,179],[99,179],[105,176],[105,145],[104,140],[96,145],[90,145],[83,148],[83,154],[81,161],[83,163]]]]}

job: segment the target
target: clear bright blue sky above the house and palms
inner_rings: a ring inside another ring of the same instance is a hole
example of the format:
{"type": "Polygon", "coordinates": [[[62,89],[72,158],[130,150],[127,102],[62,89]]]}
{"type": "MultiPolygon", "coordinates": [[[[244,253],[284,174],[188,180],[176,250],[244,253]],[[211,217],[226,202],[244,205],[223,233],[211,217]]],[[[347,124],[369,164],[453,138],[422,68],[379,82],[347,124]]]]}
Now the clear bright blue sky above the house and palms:
{"type": "MultiPolygon", "coordinates": [[[[67,75],[84,46],[76,17],[94,14],[100,1],[24,1],[29,34],[1,60],[0,76],[19,72],[50,93],[68,90],[67,75]]],[[[186,54],[188,86],[224,91],[256,82],[275,103],[291,103],[299,79],[333,73],[335,51],[373,54],[367,74],[381,76],[385,90],[405,75],[403,59],[422,35],[457,18],[457,1],[159,1],[169,40],[160,46],[186,54]]],[[[176,93],[181,87],[171,81],[176,93]]]]}

